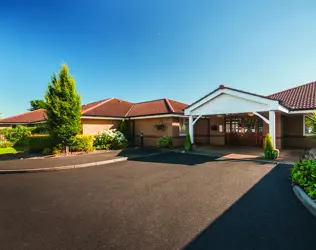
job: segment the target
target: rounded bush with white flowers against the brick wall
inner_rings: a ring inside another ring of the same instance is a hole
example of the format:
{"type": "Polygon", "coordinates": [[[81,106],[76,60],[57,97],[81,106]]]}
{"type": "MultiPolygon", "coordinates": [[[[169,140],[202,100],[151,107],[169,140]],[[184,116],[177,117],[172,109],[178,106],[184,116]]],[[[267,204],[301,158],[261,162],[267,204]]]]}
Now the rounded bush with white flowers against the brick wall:
{"type": "Polygon", "coordinates": [[[127,145],[127,140],[122,132],[116,129],[105,130],[94,137],[94,146],[97,149],[122,149],[127,145]]]}

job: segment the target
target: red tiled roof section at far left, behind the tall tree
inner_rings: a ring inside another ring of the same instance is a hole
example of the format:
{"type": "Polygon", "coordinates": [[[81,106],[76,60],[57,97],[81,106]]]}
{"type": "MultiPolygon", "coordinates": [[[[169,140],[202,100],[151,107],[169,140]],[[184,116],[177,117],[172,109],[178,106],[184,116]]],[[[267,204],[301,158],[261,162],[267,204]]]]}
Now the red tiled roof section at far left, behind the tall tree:
{"type": "Polygon", "coordinates": [[[11,116],[0,120],[0,123],[33,123],[46,120],[44,109],[29,111],[23,114],[11,116]]]}

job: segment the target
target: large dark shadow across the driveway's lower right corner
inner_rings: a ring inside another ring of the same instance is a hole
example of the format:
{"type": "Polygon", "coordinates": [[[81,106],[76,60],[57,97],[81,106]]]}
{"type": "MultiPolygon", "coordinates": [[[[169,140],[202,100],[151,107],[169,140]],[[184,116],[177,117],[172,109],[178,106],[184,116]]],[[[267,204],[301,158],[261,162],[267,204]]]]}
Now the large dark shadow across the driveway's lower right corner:
{"type": "Polygon", "coordinates": [[[316,249],[314,218],[279,164],[184,249],[316,249]]]}

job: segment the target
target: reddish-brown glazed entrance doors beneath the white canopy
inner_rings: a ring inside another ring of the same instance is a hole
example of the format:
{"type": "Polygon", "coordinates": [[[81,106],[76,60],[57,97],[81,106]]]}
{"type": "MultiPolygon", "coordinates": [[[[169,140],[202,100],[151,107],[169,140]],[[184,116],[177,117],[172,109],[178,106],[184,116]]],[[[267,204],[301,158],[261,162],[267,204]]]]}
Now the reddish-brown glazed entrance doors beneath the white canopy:
{"type": "Polygon", "coordinates": [[[256,116],[227,116],[226,145],[263,146],[263,121],[256,116]]]}

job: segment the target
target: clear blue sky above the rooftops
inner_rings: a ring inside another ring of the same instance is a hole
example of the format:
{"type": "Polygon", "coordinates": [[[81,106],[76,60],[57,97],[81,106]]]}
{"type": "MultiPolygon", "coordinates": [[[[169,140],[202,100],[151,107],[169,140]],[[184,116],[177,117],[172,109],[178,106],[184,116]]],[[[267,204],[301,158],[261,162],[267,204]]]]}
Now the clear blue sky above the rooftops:
{"type": "Polygon", "coordinates": [[[316,1],[0,1],[0,112],[43,98],[62,62],[83,103],[220,84],[274,93],[316,80],[316,1]]]}

